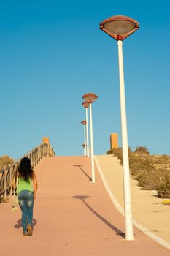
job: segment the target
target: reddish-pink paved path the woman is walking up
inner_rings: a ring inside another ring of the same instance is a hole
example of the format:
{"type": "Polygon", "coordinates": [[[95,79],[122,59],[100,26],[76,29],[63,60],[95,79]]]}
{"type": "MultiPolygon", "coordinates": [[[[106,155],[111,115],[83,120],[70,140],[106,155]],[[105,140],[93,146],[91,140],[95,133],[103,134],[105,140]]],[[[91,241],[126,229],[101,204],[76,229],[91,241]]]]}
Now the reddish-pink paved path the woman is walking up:
{"type": "Polygon", "coordinates": [[[115,210],[96,171],[90,181],[87,157],[48,157],[36,167],[34,235],[23,236],[20,209],[1,203],[0,255],[169,256],[134,228],[125,241],[124,219],[115,210]]]}

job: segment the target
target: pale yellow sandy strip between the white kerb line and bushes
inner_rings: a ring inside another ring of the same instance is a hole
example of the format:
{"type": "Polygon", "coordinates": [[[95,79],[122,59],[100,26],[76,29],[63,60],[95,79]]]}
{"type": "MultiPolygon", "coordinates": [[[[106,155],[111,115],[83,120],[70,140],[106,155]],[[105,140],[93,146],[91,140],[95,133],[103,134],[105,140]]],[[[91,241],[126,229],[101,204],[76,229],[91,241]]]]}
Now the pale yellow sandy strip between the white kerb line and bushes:
{"type": "MultiPolygon", "coordinates": [[[[123,207],[123,167],[112,155],[97,156],[97,159],[110,189],[120,206],[123,207]]],[[[130,179],[133,218],[152,233],[170,243],[169,205],[163,205],[163,199],[156,197],[155,190],[141,190],[134,176],[131,176],[130,179]]]]}

